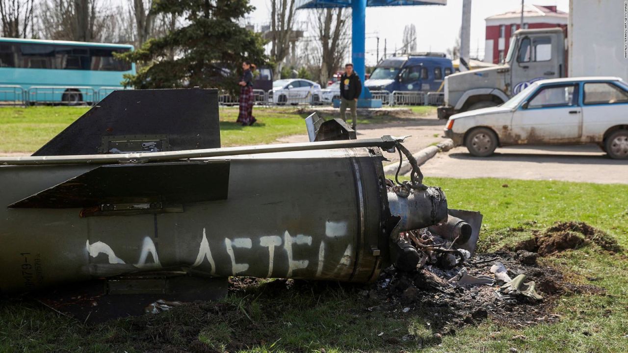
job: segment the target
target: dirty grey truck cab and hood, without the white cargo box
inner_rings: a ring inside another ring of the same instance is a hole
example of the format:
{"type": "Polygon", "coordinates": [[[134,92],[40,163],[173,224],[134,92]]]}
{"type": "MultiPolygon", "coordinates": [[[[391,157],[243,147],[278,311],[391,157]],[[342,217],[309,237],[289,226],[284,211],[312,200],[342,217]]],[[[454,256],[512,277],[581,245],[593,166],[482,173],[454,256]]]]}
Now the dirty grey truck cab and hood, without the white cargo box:
{"type": "Polygon", "coordinates": [[[445,78],[445,104],[438,117],[499,106],[538,80],[566,76],[565,34],[561,28],[518,30],[501,65],[454,73],[445,78]]]}

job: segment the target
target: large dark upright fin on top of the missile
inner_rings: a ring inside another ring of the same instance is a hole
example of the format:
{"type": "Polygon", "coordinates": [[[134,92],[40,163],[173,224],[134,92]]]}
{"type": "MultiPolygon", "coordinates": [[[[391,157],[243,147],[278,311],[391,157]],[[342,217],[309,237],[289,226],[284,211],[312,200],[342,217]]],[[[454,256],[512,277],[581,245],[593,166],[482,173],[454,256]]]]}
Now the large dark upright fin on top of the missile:
{"type": "MultiPolygon", "coordinates": [[[[55,136],[33,156],[120,152],[122,137],[161,136],[161,151],[219,148],[216,89],[116,90],[55,136]],[[163,136],[166,136],[164,138],[163,136]],[[117,147],[109,141],[117,141],[117,147]],[[110,148],[111,147],[111,148],[110,148]]],[[[137,138],[135,138],[137,139],[137,138]]],[[[131,140],[129,140],[131,141],[131,140]]],[[[127,149],[136,149],[128,146],[127,149]]]]}

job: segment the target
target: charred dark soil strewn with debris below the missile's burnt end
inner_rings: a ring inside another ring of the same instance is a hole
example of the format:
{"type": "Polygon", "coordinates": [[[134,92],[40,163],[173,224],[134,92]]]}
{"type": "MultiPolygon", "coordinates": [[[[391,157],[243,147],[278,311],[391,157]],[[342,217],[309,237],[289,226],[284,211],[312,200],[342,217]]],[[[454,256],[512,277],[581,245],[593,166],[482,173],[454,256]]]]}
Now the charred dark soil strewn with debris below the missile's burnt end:
{"type": "Polygon", "coordinates": [[[503,263],[511,278],[517,274],[526,274],[527,281],[536,283],[536,290],[543,296],[543,300],[537,301],[526,296],[515,300],[498,299],[495,296],[497,285],[443,285],[460,269],[442,271],[438,268],[431,268],[431,271],[423,269],[416,273],[399,273],[394,268],[386,269],[372,287],[369,297],[379,302],[378,307],[403,307],[419,312],[428,318],[436,332],[455,334],[461,327],[474,325],[487,317],[515,327],[555,322],[560,318],[559,315],[551,314],[556,298],[569,293],[604,291],[595,286],[568,283],[560,271],[539,266],[534,256],[524,253],[482,254],[470,261],[468,273],[476,276],[490,275],[490,266],[495,262],[503,263]]]}

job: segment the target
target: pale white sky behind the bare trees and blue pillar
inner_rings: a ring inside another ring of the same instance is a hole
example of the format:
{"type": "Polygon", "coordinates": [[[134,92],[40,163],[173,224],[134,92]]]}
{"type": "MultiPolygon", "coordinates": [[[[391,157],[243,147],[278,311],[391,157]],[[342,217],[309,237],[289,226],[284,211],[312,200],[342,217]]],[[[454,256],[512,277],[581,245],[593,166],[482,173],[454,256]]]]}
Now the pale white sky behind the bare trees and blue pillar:
{"type": "MultiPolygon", "coordinates": [[[[527,5],[556,5],[559,10],[569,11],[569,0],[524,0],[527,5]]],[[[252,24],[269,23],[270,0],[251,0],[255,6],[247,21],[252,24]]],[[[494,14],[521,8],[521,0],[472,0],[471,43],[472,57],[484,57],[485,22],[494,14]]],[[[307,23],[310,10],[297,10],[297,20],[307,23]]],[[[376,64],[377,36],[379,55],[394,52],[401,48],[403,29],[406,24],[414,24],[417,33],[418,52],[446,52],[455,45],[462,22],[462,0],[447,0],[445,6],[393,6],[388,8],[367,8],[366,10],[366,62],[376,64]]],[[[307,23],[311,30],[311,26],[307,23]]],[[[347,52],[350,53],[350,50],[347,52]]]]}

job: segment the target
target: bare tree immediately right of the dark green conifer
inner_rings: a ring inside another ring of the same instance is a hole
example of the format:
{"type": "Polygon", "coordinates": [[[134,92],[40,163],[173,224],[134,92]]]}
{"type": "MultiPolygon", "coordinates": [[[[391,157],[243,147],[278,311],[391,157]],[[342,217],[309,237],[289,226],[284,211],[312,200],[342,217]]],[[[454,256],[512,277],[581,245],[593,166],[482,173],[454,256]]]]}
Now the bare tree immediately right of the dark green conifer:
{"type": "Polygon", "coordinates": [[[275,74],[281,75],[283,60],[290,52],[295,21],[295,0],[271,0],[271,58],[275,74]]]}

